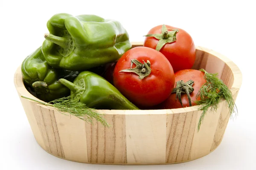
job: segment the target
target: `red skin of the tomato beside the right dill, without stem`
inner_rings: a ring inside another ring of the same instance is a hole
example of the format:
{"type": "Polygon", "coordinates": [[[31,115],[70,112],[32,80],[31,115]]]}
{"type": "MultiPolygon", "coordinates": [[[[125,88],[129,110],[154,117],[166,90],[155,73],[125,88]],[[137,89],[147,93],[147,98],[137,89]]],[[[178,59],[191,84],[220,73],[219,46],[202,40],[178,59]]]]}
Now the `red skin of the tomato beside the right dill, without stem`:
{"type": "MultiPolygon", "coordinates": [[[[192,86],[194,88],[194,91],[190,93],[191,97],[191,103],[192,106],[196,105],[195,101],[200,100],[200,96],[196,98],[196,95],[198,94],[198,91],[202,87],[204,83],[206,83],[206,80],[204,79],[204,72],[199,70],[193,70],[193,69],[186,69],[175,72],[175,82],[179,80],[183,80],[184,82],[189,81],[192,79],[194,81],[194,85],[192,86]]],[[[176,87],[176,83],[175,83],[176,87]]],[[[174,108],[182,108],[179,99],[175,99],[176,94],[171,94],[168,99],[166,99],[163,103],[160,104],[158,109],[174,109],[174,108]]],[[[181,101],[182,104],[185,107],[189,107],[189,99],[186,94],[181,94],[181,101]]]]}

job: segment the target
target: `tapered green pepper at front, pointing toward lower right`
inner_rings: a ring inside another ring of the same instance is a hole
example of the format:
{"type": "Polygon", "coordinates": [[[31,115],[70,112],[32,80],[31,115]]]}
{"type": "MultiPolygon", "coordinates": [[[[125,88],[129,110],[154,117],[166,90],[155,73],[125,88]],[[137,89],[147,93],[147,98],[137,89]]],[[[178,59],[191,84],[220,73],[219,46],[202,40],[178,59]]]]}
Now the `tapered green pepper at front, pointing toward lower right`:
{"type": "Polygon", "coordinates": [[[110,82],[90,71],[81,72],[74,82],[58,80],[71,90],[71,99],[77,99],[89,108],[138,110],[110,82]]]}

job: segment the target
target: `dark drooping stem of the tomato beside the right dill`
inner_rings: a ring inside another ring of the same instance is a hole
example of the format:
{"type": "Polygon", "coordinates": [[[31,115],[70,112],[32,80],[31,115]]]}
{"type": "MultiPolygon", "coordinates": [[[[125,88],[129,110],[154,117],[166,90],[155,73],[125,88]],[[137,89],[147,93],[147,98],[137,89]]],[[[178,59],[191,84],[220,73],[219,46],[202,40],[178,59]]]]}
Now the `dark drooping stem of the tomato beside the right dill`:
{"type": "Polygon", "coordinates": [[[189,80],[187,82],[183,82],[183,80],[180,80],[176,82],[176,87],[173,89],[172,93],[176,93],[176,100],[178,97],[182,107],[183,107],[183,104],[181,101],[181,94],[186,94],[188,96],[189,106],[192,106],[190,93],[194,91],[194,88],[192,87],[193,84],[194,84],[193,80],[189,80]]]}

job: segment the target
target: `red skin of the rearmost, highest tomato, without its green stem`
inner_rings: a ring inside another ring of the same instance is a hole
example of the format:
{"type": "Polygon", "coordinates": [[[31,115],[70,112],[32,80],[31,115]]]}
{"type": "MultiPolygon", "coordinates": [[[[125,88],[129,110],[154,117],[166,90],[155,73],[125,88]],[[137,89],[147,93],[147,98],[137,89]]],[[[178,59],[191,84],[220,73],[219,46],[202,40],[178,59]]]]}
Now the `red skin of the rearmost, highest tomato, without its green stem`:
{"type": "MultiPolygon", "coordinates": [[[[178,29],[177,40],[166,43],[160,52],[163,53],[172,65],[174,72],[191,69],[195,62],[195,44],[192,37],[183,29],[167,26],[169,29],[178,29]]],[[[152,28],[148,34],[161,34],[162,25],[152,28]]],[[[146,37],[143,46],[156,49],[159,40],[146,37]]]]}

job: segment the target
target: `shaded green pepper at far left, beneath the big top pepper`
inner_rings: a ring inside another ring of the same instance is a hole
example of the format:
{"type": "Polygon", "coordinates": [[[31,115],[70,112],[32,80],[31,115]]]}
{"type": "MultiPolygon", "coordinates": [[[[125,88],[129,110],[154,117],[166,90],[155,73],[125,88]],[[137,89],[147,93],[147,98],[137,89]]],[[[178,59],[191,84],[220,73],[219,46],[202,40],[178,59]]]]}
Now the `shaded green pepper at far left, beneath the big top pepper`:
{"type": "Polygon", "coordinates": [[[65,78],[73,81],[79,72],[51,68],[39,47],[23,60],[21,74],[24,84],[35,92],[36,97],[50,102],[70,95],[70,90],[59,83],[58,79],[65,78]]]}

